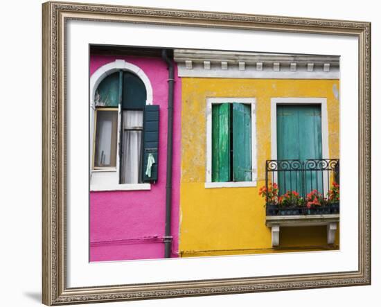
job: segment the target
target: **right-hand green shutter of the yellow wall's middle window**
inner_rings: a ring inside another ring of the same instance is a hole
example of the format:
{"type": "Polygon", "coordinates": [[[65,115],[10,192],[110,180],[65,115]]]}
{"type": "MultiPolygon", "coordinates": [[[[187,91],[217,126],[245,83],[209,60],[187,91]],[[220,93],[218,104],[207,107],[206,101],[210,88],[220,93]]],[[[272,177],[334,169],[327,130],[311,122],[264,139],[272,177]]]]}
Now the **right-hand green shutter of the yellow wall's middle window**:
{"type": "Polygon", "coordinates": [[[251,181],[251,106],[233,103],[233,181],[251,181]]]}

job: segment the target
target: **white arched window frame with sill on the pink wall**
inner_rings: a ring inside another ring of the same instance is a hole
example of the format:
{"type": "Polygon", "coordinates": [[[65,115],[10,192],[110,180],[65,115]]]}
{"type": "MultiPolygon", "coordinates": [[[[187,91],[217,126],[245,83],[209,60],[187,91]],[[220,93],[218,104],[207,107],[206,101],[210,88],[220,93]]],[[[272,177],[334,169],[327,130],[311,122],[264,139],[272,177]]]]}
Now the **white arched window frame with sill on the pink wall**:
{"type": "MultiPolygon", "coordinates": [[[[94,148],[94,130],[95,130],[95,95],[96,89],[100,82],[116,71],[130,71],[138,76],[145,85],[145,91],[147,92],[147,99],[145,105],[152,105],[152,86],[148,79],[148,76],[144,71],[125,60],[115,60],[114,62],[107,63],[102,67],[99,67],[90,78],[90,159],[93,159],[94,148]]],[[[120,119],[121,119],[121,107],[118,108],[118,139],[120,133],[120,119]]],[[[116,152],[119,152],[119,148],[116,148],[116,152]]],[[[150,184],[119,184],[119,159],[116,159],[116,169],[106,170],[90,170],[90,191],[121,191],[121,190],[150,190],[150,184]]]]}

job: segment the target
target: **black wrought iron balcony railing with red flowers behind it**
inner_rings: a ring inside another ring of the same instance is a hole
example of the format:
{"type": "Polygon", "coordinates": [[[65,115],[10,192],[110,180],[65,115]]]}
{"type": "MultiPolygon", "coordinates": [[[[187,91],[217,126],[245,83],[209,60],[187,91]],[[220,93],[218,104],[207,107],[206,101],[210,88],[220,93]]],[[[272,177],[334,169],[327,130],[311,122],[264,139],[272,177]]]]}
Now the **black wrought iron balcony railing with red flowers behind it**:
{"type": "Polygon", "coordinates": [[[339,213],[339,182],[339,159],[267,160],[266,214],[339,213]]]}

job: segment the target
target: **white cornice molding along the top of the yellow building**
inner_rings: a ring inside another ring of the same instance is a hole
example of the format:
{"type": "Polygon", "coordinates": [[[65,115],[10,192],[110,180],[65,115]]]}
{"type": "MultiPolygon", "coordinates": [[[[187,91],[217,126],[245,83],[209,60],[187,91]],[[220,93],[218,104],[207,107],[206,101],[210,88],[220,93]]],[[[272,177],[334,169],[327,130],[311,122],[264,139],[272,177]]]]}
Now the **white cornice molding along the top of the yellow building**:
{"type": "Polygon", "coordinates": [[[339,56],[175,49],[179,77],[339,79],[339,56]]]}

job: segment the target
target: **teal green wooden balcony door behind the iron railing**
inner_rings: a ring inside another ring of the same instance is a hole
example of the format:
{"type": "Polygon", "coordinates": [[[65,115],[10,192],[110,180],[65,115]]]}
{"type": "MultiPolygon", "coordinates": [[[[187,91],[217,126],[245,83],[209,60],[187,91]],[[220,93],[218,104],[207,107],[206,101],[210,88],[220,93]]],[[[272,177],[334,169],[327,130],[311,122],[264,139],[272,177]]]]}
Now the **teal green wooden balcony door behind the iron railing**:
{"type": "Polygon", "coordinates": [[[322,158],[321,105],[276,105],[276,144],[278,160],[296,160],[278,164],[278,169],[287,169],[278,172],[279,192],[322,193],[322,174],[300,170],[307,159],[322,158]]]}

